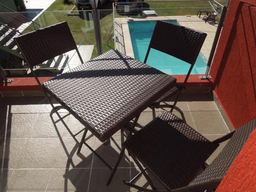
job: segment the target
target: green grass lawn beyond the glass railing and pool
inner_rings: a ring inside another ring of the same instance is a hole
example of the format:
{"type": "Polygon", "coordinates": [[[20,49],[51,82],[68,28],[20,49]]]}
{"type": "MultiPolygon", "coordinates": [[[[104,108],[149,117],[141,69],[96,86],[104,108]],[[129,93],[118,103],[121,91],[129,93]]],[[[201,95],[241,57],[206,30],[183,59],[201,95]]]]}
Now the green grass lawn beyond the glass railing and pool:
{"type": "MultiPolygon", "coordinates": [[[[220,0],[223,4],[226,0],[220,0]]],[[[187,1],[187,2],[153,2],[146,1],[143,6],[149,6],[151,10],[156,10],[158,16],[165,15],[196,15],[198,9],[210,9],[211,6],[207,1],[187,1]],[[165,8],[165,9],[164,9],[165,8]]],[[[42,26],[49,26],[57,22],[67,21],[69,28],[78,45],[94,45],[92,58],[97,56],[95,45],[95,35],[93,29],[93,21],[84,19],[88,14],[78,12],[75,6],[75,0],[56,0],[37,20],[42,26]],[[65,2],[65,3],[64,3],[65,2]],[[74,7],[74,10],[71,11],[74,7]],[[71,11],[71,12],[70,12],[71,11]],[[68,15],[68,13],[72,15],[68,15]]],[[[87,11],[86,11],[87,12],[87,11]]],[[[91,13],[91,11],[88,11],[91,13]]],[[[89,13],[89,14],[90,14],[89,13]]],[[[116,17],[127,17],[127,15],[119,15],[115,12],[116,17]]],[[[138,14],[130,15],[130,17],[138,17],[138,14]]],[[[103,52],[114,49],[112,40],[114,34],[113,11],[100,10],[100,27],[102,37],[103,52]]],[[[28,31],[32,30],[31,26],[28,31]]]]}

